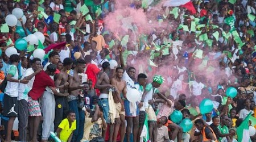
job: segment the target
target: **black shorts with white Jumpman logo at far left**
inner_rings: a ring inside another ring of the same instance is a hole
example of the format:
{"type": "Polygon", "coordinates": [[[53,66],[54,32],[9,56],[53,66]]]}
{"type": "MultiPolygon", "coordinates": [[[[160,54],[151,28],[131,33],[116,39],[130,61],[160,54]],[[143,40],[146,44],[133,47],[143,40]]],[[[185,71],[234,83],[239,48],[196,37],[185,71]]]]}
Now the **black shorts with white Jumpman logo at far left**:
{"type": "Polygon", "coordinates": [[[18,117],[17,97],[10,97],[7,94],[3,96],[3,116],[18,117]]]}

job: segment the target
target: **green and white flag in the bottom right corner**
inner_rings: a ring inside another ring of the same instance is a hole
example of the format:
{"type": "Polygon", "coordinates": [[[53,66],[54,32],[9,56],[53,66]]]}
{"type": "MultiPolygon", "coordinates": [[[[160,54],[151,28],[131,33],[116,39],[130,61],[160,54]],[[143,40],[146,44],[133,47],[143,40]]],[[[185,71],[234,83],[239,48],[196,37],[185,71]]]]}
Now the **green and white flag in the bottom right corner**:
{"type": "Polygon", "coordinates": [[[243,122],[240,124],[240,126],[237,128],[237,140],[240,142],[248,142],[250,140],[249,135],[249,118],[250,114],[246,116],[246,118],[243,120],[243,122]]]}

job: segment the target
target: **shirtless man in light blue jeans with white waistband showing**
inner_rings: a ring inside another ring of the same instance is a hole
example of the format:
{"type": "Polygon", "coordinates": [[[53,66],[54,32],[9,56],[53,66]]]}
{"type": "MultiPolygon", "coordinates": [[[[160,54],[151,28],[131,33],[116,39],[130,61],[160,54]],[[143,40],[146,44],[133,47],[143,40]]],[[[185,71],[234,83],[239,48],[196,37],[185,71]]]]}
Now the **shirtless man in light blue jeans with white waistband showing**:
{"type": "MultiPolygon", "coordinates": [[[[98,98],[98,104],[100,105],[101,110],[103,111],[104,119],[106,123],[110,123],[109,118],[109,89],[113,89],[113,85],[110,85],[109,73],[110,73],[110,64],[109,62],[104,62],[102,64],[102,69],[98,74],[98,80],[96,82],[95,88],[100,89],[100,97],[98,98]]],[[[113,131],[113,130],[112,130],[113,131]]],[[[105,131],[102,133],[102,136],[105,139],[105,131]]],[[[112,141],[112,140],[109,140],[112,141]]]]}

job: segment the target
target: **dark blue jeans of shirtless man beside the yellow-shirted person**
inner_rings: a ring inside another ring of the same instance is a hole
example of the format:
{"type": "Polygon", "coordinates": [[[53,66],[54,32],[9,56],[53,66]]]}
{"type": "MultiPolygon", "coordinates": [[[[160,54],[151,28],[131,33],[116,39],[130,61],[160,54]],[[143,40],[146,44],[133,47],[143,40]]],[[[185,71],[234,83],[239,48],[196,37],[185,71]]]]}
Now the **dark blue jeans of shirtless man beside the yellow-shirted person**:
{"type": "Polygon", "coordinates": [[[73,137],[71,140],[73,142],[80,141],[82,139],[82,135],[84,135],[85,114],[84,114],[84,111],[79,110],[79,108],[77,107],[77,102],[78,102],[77,99],[68,102],[70,110],[75,111],[75,114],[76,114],[76,130],[73,132],[73,137]]]}

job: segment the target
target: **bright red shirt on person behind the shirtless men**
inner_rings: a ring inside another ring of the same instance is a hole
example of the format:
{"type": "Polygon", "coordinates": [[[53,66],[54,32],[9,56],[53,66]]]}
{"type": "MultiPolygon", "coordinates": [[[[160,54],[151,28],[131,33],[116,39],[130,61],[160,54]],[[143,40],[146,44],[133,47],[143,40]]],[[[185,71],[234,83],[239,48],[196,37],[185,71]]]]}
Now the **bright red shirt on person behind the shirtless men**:
{"type": "Polygon", "coordinates": [[[92,87],[95,86],[96,81],[97,81],[97,74],[100,71],[101,70],[98,68],[98,66],[96,66],[94,64],[87,65],[87,69],[86,69],[85,73],[87,74],[88,79],[92,81],[92,87]]]}

